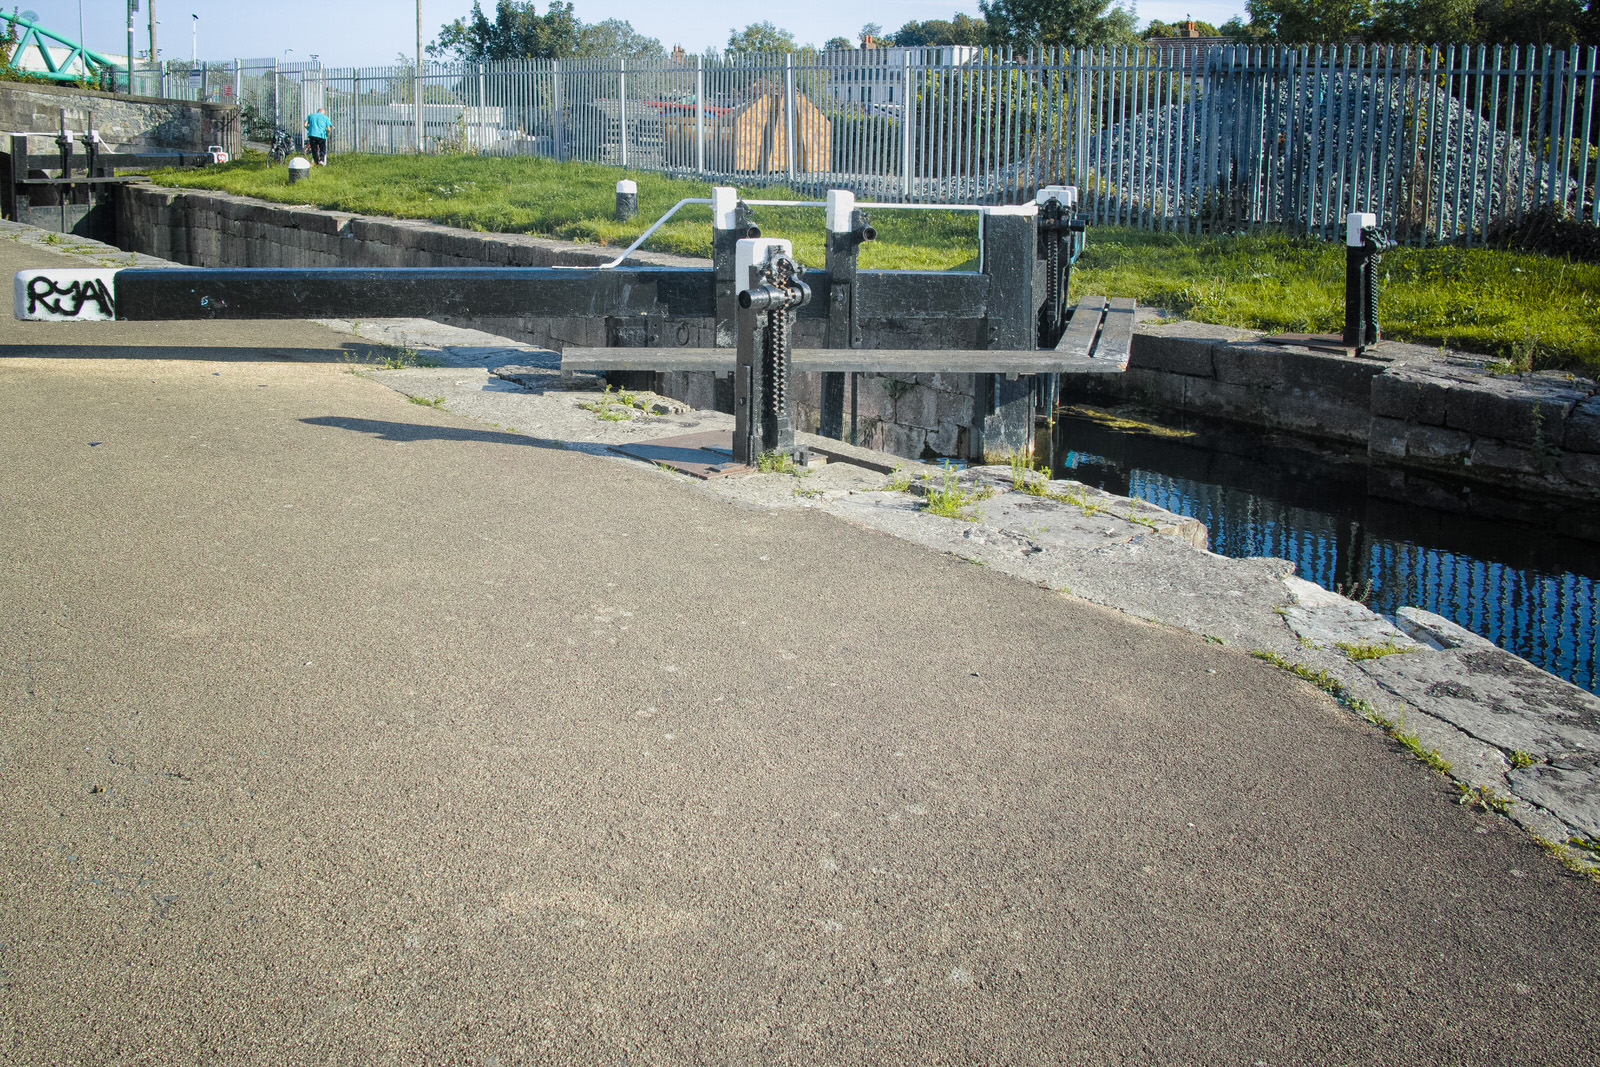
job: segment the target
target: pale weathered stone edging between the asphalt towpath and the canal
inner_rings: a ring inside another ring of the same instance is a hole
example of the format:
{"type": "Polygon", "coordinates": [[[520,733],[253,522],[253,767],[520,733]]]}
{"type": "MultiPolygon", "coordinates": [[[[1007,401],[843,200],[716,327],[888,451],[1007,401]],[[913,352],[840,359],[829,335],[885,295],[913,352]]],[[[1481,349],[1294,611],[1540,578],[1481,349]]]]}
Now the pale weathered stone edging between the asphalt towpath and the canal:
{"type": "MultiPolygon", "coordinates": [[[[104,266],[174,266],[14,224],[0,226],[0,237],[104,266]]],[[[427,320],[323,325],[419,363],[354,368],[397,392],[618,462],[637,461],[611,453],[613,445],[733,424],[731,416],[654,395],[638,398],[658,413],[600,419],[584,406],[605,395],[598,379],[562,374],[558,354],[483,331],[427,320]]],[[[826,438],[800,440],[838,450],[826,438]]],[[[1600,699],[1592,694],[1485,648],[1486,641],[1437,616],[1408,608],[1395,621],[1382,619],[1296,579],[1286,560],[1230,560],[1195,547],[1197,523],[1146,502],[1075,482],[1050,485],[1066,499],[1018,493],[1008,469],[979,467],[962,472],[957,485],[992,494],[974,499],[965,518],[941,518],[926,514],[917,496],[890,490],[942,478],[938,469],[859,451],[878,470],[834,462],[800,477],[696,485],[749,507],[821,509],[1062,595],[1293,664],[1357,713],[1437,753],[1464,801],[1493,806],[1558,848],[1574,837],[1600,841],[1600,699]],[[885,467],[898,474],[886,477],[885,467]],[[1360,657],[1374,651],[1387,654],[1360,657]]],[[[661,477],[686,475],[662,470],[661,477]]],[[[1587,848],[1570,849],[1566,857],[1600,870],[1587,848]]]]}

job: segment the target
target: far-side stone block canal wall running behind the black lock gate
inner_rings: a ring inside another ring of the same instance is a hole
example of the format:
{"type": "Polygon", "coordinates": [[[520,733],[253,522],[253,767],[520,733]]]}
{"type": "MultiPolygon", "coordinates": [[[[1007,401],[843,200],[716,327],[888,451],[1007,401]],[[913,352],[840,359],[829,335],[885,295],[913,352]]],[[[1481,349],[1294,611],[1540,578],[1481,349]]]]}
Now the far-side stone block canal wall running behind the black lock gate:
{"type": "MultiPolygon", "coordinates": [[[[411,219],[374,219],[155,186],[122,190],[120,243],[197,267],[546,267],[598,264],[614,253],[522,234],[474,234],[411,219]]],[[[638,253],[638,262],[699,261],[638,253]]],[[[474,320],[478,330],[562,349],[619,341],[595,318],[474,320]]],[[[680,346],[710,344],[712,323],[680,346]]],[[[882,331],[880,331],[882,333],[882,331]]],[[[950,347],[896,323],[869,347],[950,347]]],[[[819,344],[800,336],[802,346],[819,344]]],[[[714,406],[709,374],[658,374],[656,390],[714,406]]],[[[800,376],[810,379],[814,376],[800,376]]],[[[859,443],[910,459],[962,454],[971,432],[971,374],[858,374],[859,443]]],[[[1141,402],[1333,442],[1363,451],[1402,499],[1438,493],[1438,478],[1600,501],[1600,395],[1563,374],[1493,374],[1486,357],[1384,342],[1363,358],[1262,344],[1203,323],[1144,323],[1126,374],[1069,379],[1069,397],[1141,402]],[[1413,478],[1413,472],[1421,478],[1413,478]]],[[[728,392],[728,390],[720,390],[728,392]]],[[[818,426],[819,386],[800,381],[797,418],[818,426]]]]}

